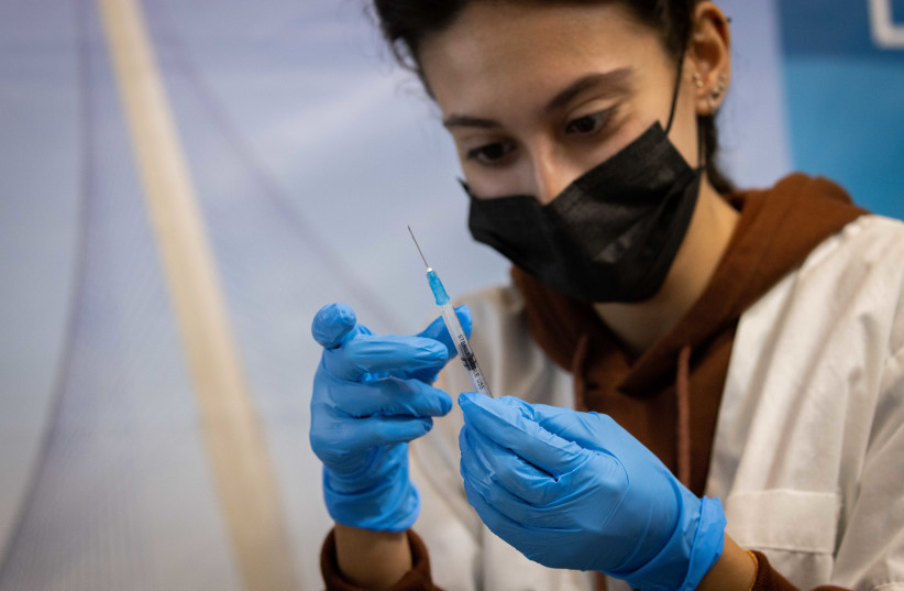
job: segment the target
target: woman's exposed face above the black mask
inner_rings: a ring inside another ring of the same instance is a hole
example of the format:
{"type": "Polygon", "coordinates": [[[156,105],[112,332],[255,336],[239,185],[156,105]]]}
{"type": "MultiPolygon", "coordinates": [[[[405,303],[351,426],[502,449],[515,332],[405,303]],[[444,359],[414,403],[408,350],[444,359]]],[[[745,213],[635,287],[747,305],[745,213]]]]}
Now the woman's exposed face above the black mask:
{"type": "MultiPolygon", "coordinates": [[[[654,121],[665,128],[679,76],[618,2],[474,2],[422,42],[420,63],[471,190],[542,204],[654,121]]],[[[691,74],[670,139],[696,165],[691,74]]]]}

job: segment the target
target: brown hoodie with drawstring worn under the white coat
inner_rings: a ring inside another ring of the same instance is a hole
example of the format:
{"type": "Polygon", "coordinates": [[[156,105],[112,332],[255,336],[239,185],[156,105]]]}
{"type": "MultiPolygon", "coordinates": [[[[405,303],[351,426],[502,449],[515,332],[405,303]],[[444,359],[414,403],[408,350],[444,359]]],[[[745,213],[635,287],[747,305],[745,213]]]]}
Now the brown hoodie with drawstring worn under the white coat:
{"type": "MultiPolygon", "coordinates": [[[[512,270],[533,338],[555,363],[574,374],[576,406],[613,416],[696,494],[703,494],[706,483],[740,315],[820,242],[866,212],[851,205],[838,185],[801,174],[772,189],[738,193],[728,199],[740,219],[709,285],[677,325],[638,359],[619,346],[589,304],[512,270]]],[[[411,546],[419,560],[392,591],[437,589],[430,580],[427,550],[417,536],[411,535],[411,546]]],[[[354,589],[334,568],[334,551],[328,538],[321,560],[327,589],[354,589]]],[[[763,555],[757,557],[754,590],[796,590],[769,567],[763,555]]],[[[605,584],[602,577],[599,582],[605,584]]],[[[837,588],[819,588],[829,589],[837,588]]]]}

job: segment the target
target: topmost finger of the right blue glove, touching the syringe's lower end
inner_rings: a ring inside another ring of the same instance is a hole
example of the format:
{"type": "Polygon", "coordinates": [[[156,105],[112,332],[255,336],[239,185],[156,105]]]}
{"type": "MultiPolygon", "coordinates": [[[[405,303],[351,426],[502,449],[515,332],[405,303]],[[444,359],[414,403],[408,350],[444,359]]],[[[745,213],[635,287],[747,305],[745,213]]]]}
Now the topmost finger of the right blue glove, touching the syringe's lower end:
{"type": "Polygon", "coordinates": [[[465,392],[459,396],[459,406],[467,427],[553,477],[571,472],[586,461],[581,446],[532,420],[531,405],[527,403],[512,405],[510,401],[465,392]]]}

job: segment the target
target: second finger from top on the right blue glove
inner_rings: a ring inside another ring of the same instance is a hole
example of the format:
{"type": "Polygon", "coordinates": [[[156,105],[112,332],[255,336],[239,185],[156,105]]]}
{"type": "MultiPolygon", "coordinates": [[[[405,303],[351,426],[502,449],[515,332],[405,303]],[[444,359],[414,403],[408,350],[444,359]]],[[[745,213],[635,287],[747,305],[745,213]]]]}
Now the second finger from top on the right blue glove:
{"type": "Polygon", "coordinates": [[[573,491],[549,472],[525,461],[485,435],[468,426],[459,436],[462,469],[495,486],[507,490],[514,497],[530,505],[554,504],[573,491]]]}

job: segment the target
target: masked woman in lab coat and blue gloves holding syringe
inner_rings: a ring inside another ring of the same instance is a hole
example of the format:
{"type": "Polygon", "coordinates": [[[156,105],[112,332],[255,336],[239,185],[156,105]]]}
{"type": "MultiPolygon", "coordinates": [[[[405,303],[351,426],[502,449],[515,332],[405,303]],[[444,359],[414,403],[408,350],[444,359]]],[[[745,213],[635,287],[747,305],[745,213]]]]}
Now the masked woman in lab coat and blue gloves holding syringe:
{"type": "Polygon", "coordinates": [[[731,190],[718,7],[375,3],[514,263],[460,309],[508,396],[431,385],[439,322],[318,314],[327,587],[904,589],[904,229],[823,179],[731,190]]]}

